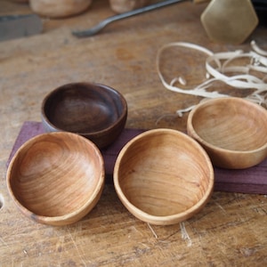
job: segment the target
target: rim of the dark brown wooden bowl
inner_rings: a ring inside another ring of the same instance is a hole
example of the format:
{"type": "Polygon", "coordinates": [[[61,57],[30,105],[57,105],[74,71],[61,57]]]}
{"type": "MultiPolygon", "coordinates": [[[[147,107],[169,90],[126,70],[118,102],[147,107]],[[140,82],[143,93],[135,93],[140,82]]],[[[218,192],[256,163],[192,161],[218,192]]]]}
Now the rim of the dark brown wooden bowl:
{"type": "Polygon", "coordinates": [[[42,101],[42,105],[41,105],[41,115],[42,115],[42,119],[44,120],[44,122],[47,125],[50,125],[54,131],[59,131],[59,132],[69,132],[69,133],[74,133],[74,134],[80,134],[83,136],[93,136],[93,135],[101,135],[104,134],[105,132],[108,132],[110,129],[116,128],[117,125],[119,125],[127,116],[127,112],[128,112],[128,107],[127,107],[127,102],[125,100],[125,97],[123,96],[122,93],[118,92],[116,89],[114,89],[113,87],[110,87],[109,85],[103,85],[100,83],[91,83],[91,82],[77,82],[77,83],[69,83],[69,84],[65,84],[65,85],[61,85],[59,87],[56,87],[55,89],[53,89],[51,92],[47,93],[44,96],[44,100],[42,101]],[[54,125],[50,119],[46,116],[46,113],[44,111],[44,107],[46,102],[48,101],[48,99],[50,99],[51,97],[53,97],[53,95],[55,93],[64,91],[68,89],[69,85],[85,85],[85,86],[98,86],[101,87],[101,89],[104,89],[106,92],[112,93],[112,94],[117,94],[119,97],[120,102],[122,103],[123,106],[123,112],[120,114],[120,116],[117,118],[117,120],[112,123],[112,125],[109,125],[108,127],[105,127],[99,131],[95,131],[95,132],[69,132],[66,129],[62,129],[56,125],[54,125]]]}

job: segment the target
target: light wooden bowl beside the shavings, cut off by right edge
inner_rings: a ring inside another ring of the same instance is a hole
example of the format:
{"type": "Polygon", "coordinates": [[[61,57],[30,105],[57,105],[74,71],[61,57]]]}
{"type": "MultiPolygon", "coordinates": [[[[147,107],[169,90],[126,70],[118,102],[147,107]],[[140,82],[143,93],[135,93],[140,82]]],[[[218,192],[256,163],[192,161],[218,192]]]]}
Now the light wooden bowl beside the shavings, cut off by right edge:
{"type": "Polygon", "coordinates": [[[214,166],[243,169],[267,157],[267,110],[251,101],[229,97],[199,103],[190,111],[187,131],[214,166]]]}

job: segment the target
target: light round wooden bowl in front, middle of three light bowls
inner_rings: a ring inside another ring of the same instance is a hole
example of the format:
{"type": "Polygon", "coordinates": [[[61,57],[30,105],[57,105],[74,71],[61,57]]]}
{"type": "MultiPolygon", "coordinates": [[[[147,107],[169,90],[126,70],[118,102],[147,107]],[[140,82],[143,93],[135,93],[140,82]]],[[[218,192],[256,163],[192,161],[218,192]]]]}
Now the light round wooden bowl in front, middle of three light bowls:
{"type": "Polygon", "coordinates": [[[117,196],[143,222],[168,225],[197,214],[214,189],[206,151],[171,129],[137,135],[120,151],[114,168],[117,196]]]}

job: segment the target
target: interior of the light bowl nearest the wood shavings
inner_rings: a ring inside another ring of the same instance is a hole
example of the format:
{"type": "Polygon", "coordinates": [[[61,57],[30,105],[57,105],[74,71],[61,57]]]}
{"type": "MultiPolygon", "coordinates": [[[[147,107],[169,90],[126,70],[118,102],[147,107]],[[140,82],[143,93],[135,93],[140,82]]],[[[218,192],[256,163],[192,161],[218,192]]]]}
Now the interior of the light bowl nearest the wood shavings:
{"type": "Polygon", "coordinates": [[[238,98],[204,102],[191,125],[204,142],[224,150],[257,150],[267,143],[266,110],[238,98]]]}

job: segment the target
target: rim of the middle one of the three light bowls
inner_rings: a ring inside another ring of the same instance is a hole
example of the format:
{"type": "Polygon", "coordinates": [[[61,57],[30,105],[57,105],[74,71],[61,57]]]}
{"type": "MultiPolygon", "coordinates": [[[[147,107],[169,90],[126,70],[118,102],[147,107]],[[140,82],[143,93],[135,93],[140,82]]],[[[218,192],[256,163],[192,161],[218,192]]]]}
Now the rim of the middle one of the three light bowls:
{"type": "Polygon", "coordinates": [[[214,167],[212,165],[212,162],[211,162],[209,156],[206,153],[206,150],[204,150],[198,142],[196,142],[195,140],[190,138],[189,135],[184,134],[184,133],[182,133],[178,130],[174,130],[174,129],[158,128],[158,129],[148,130],[142,134],[138,134],[131,141],[129,141],[125,144],[124,148],[122,150],[120,150],[118,157],[117,157],[117,160],[116,160],[116,163],[115,163],[115,166],[114,166],[113,181],[114,181],[115,190],[117,191],[118,198],[120,198],[120,200],[122,201],[122,203],[124,204],[126,209],[128,209],[128,211],[130,213],[134,214],[137,218],[139,218],[143,222],[158,224],[158,225],[174,224],[174,223],[180,223],[186,219],[189,219],[193,214],[197,214],[198,211],[206,205],[209,198],[211,198],[211,195],[214,191],[214,167]],[[125,194],[120,187],[120,182],[119,182],[119,178],[118,178],[118,170],[119,170],[120,162],[125,155],[125,152],[127,150],[129,150],[134,145],[134,143],[138,142],[140,139],[142,139],[146,136],[149,136],[149,135],[160,133],[160,132],[163,134],[175,134],[175,135],[177,135],[177,137],[180,137],[180,138],[182,137],[187,142],[190,142],[206,158],[206,166],[209,169],[209,178],[208,178],[209,182],[208,182],[208,186],[207,186],[207,189],[205,191],[205,194],[202,196],[202,198],[200,198],[198,200],[198,202],[195,205],[190,206],[190,208],[186,209],[185,211],[183,211],[179,214],[159,216],[159,215],[153,215],[153,214],[149,214],[147,212],[144,212],[144,211],[142,211],[142,209],[138,208],[137,206],[134,206],[134,204],[132,204],[128,200],[128,198],[125,197],[125,194]]]}

